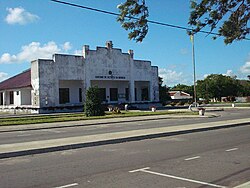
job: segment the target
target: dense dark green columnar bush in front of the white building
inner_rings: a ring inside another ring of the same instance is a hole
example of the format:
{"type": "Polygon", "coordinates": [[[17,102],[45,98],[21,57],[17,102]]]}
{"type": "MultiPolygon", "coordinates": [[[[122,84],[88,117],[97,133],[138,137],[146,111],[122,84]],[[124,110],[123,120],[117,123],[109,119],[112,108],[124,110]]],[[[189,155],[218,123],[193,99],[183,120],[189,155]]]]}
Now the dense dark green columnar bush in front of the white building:
{"type": "Polygon", "coordinates": [[[103,116],[105,114],[98,87],[90,87],[87,90],[84,108],[86,116],[103,116]]]}

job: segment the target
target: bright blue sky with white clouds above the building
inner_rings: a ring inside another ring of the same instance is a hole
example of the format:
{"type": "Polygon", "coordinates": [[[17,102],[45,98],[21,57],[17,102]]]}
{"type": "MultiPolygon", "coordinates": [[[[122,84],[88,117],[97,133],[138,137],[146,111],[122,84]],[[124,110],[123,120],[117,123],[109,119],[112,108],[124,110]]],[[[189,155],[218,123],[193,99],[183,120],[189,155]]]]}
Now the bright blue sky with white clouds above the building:
{"type": "MultiPolygon", "coordinates": [[[[124,0],[65,0],[118,12],[124,0]]],[[[150,20],[188,26],[189,1],[147,0],[150,20]]],[[[50,0],[0,1],[0,81],[30,67],[37,58],[53,53],[80,54],[82,46],[104,46],[112,40],[124,52],[133,49],[135,59],[151,60],[168,86],[192,84],[192,46],[185,31],[149,25],[142,43],[130,41],[115,16],[69,7],[50,0]]],[[[250,74],[250,41],[225,45],[222,39],[195,36],[197,79],[208,74],[250,74]]]]}

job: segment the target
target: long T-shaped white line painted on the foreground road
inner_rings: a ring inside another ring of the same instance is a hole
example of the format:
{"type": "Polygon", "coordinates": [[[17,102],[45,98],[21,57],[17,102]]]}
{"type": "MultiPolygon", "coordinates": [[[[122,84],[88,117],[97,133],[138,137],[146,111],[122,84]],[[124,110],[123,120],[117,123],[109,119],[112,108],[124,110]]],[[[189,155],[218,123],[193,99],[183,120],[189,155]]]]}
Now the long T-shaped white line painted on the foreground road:
{"type": "Polygon", "coordinates": [[[182,181],[197,183],[197,184],[201,184],[201,185],[208,185],[208,186],[211,186],[211,187],[226,188],[225,186],[221,186],[221,185],[215,185],[215,184],[212,184],[212,183],[206,183],[206,182],[192,180],[192,179],[187,179],[187,178],[182,178],[182,177],[178,177],[178,176],[173,176],[173,175],[168,175],[168,174],[162,174],[162,173],[159,173],[159,172],[150,171],[148,169],[150,169],[150,167],[141,168],[141,169],[137,169],[137,170],[132,170],[132,171],[129,171],[129,172],[130,173],[133,173],[133,172],[145,172],[145,173],[149,173],[149,174],[154,174],[154,175],[168,177],[168,178],[173,178],[173,179],[177,179],[177,180],[182,180],[182,181]]]}

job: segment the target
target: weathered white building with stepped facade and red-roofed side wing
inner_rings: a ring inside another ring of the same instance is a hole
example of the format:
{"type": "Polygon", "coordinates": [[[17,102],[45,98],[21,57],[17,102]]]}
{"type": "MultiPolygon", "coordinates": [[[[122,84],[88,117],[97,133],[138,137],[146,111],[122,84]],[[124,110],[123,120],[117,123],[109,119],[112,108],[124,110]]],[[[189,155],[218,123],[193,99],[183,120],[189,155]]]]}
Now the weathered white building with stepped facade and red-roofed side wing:
{"type": "Polygon", "coordinates": [[[0,109],[48,113],[82,110],[86,90],[100,89],[104,104],[159,102],[158,67],[135,60],[133,50],[123,53],[105,47],[82,55],[54,54],[37,59],[31,68],[0,83],[0,109]]]}

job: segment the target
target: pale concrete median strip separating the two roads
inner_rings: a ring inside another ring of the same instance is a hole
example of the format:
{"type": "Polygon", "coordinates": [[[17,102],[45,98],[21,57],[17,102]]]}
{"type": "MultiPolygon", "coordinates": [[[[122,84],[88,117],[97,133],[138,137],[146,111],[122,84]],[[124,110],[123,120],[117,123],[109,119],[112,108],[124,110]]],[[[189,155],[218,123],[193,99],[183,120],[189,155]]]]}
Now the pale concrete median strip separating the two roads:
{"type": "Polygon", "coordinates": [[[115,133],[95,134],[87,136],[76,136],[69,138],[31,141],[24,143],[3,144],[0,145],[0,159],[53,151],[77,149],[104,144],[121,143],[125,141],[135,141],[163,136],[186,134],[191,132],[201,132],[242,125],[249,126],[250,118],[171,127],[150,128],[115,133]]]}

